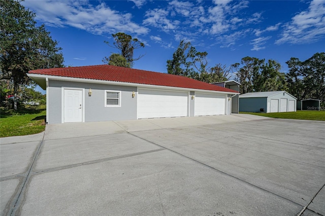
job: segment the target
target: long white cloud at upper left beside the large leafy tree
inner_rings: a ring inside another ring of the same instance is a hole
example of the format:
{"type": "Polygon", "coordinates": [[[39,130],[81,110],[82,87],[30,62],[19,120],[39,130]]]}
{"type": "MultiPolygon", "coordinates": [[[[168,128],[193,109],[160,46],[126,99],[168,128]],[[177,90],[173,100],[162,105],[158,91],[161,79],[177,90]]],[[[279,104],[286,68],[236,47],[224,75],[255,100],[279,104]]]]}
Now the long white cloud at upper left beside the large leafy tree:
{"type": "Polygon", "coordinates": [[[94,34],[149,32],[148,28],[133,22],[131,14],[112,10],[105,3],[93,6],[84,1],[25,1],[22,4],[37,14],[37,20],[49,26],[72,26],[94,34]]]}

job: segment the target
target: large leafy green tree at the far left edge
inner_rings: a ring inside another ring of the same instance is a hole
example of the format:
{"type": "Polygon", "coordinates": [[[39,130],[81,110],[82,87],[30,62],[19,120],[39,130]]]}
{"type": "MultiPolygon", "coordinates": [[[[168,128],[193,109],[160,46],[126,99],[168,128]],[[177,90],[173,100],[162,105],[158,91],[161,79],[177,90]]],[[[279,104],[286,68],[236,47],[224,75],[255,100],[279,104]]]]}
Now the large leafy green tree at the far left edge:
{"type": "Polygon", "coordinates": [[[26,76],[29,70],[63,66],[57,42],[44,25],[36,26],[35,13],[20,2],[0,1],[0,77],[13,83],[15,96],[21,85],[31,83],[26,76]]]}

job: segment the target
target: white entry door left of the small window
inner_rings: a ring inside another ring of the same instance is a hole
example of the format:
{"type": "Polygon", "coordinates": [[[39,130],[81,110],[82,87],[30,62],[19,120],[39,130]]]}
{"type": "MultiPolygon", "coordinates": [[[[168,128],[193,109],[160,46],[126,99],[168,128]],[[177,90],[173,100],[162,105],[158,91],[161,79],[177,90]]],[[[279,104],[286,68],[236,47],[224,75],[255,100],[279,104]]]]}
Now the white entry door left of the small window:
{"type": "Polygon", "coordinates": [[[63,122],[82,122],[82,89],[63,90],[63,122]]]}

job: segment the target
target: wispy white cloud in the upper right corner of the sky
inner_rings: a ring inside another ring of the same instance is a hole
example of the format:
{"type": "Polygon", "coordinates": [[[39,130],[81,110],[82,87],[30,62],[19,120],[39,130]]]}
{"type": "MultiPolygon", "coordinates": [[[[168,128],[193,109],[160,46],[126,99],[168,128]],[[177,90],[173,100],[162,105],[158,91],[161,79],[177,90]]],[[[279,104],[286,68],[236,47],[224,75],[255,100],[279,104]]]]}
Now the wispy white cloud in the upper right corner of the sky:
{"type": "Polygon", "coordinates": [[[307,10],[284,25],[281,38],[275,44],[307,44],[324,38],[325,1],[313,0],[307,10]]]}

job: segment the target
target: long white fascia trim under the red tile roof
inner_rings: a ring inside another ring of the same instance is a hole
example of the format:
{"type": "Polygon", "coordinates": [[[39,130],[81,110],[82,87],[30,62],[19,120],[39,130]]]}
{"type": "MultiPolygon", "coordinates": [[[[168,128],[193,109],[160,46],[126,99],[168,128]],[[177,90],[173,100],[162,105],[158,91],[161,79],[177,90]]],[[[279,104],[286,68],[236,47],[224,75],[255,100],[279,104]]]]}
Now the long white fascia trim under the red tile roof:
{"type": "Polygon", "coordinates": [[[148,85],[148,84],[139,84],[139,83],[126,83],[126,82],[115,82],[115,81],[106,81],[106,80],[92,80],[84,78],[72,78],[72,77],[58,77],[58,76],[48,76],[48,75],[39,75],[39,74],[27,74],[30,78],[49,78],[51,80],[60,80],[60,81],[71,81],[71,82],[84,82],[84,83],[98,83],[98,84],[110,84],[110,85],[120,85],[120,86],[136,86],[143,88],[155,88],[155,89],[175,89],[180,91],[197,91],[197,92],[211,92],[211,93],[221,93],[221,94],[240,94],[235,92],[225,92],[225,91],[212,91],[204,89],[192,89],[192,88],[181,88],[181,87],[171,87],[171,86],[157,86],[157,85],[148,85]]]}

